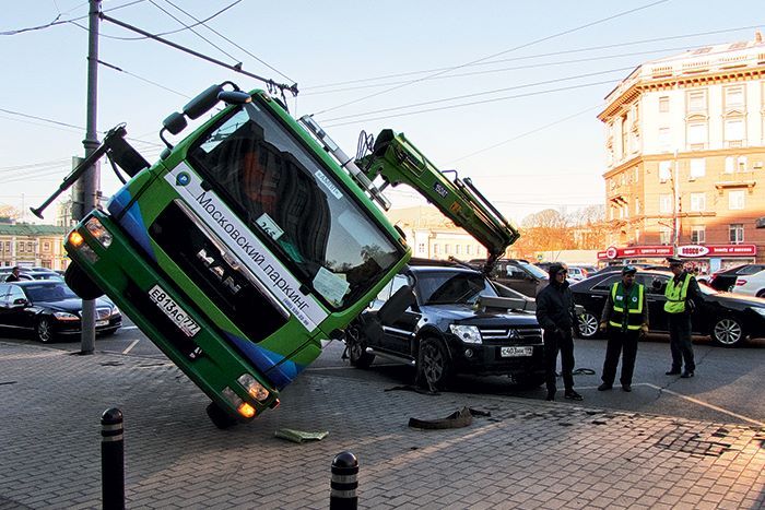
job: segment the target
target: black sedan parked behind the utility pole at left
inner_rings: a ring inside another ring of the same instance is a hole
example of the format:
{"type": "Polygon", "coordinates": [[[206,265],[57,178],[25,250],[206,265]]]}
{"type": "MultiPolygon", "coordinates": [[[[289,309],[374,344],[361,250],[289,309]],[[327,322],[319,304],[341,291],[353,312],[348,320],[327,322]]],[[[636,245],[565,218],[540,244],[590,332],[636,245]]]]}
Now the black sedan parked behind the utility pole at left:
{"type": "MultiPolygon", "coordinates": [[[[96,299],[97,334],[113,334],[122,325],[119,309],[96,299]]],[[[40,342],[81,332],[82,299],[62,281],[32,280],[0,283],[0,328],[32,331],[40,342]]]]}

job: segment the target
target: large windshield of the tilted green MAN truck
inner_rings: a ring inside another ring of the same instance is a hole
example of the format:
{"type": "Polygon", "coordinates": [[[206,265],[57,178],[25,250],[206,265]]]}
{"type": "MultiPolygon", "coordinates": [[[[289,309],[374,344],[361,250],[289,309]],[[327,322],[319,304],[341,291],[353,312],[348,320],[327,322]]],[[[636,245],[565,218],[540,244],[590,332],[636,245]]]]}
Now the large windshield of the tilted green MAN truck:
{"type": "Polygon", "coordinates": [[[353,304],[403,250],[260,100],[198,141],[189,161],[296,277],[334,308],[353,304]]]}

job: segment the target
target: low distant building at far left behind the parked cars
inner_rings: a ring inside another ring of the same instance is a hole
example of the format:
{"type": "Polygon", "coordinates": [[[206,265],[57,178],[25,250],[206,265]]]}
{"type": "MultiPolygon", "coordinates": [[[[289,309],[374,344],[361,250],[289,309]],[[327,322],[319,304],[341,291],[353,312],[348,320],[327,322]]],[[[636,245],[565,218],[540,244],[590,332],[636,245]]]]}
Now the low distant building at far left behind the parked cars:
{"type": "Polygon", "coordinates": [[[67,269],[63,238],[68,232],[55,225],[0,224],[0,266],[67,269]]]}

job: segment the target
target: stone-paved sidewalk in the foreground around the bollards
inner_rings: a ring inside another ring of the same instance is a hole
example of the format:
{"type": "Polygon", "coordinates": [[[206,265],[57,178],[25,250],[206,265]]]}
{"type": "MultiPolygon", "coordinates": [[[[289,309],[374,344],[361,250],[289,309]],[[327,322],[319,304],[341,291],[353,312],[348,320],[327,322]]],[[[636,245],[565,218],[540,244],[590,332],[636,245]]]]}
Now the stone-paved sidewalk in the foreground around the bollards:
{"type": "Polygon", "coordinates": [[[765,430],[496,395],[385,391],[308,372],[221,431],[169,363],[0,342],[0,509],[99,508],[99,418],[125,413],[128,508],[328,508],[360,460],[360,508],[763,508],[765,430]],[[419,430],[462,406],[466,428],[419,430]],[[282,427],[328,430],[316,442],[282,427]]]}

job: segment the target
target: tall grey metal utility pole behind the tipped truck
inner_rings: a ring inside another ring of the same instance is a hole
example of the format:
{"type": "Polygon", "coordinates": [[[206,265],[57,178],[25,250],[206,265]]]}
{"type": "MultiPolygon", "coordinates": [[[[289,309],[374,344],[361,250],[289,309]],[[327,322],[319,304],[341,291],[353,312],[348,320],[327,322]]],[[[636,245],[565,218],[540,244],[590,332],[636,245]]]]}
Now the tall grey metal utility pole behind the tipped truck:
{"type": "MultiPolygon", "coordinates": [[[[87,35],[87,132],[82,144],[85,147],[85,157],[90,156],[98,145],[98,132],[96,131],[98,106],[98,13],[101,0],[89,0],[89,35],[87,35]]],[[[96,206],[96,193],[98,188],[98,162],[89,168],[82,178],[85,212],[96,206]]],[[[95,348],[95,301],[83,299],[82,301],[82,337],[80,354],[93,354],[95,348]]]]}

